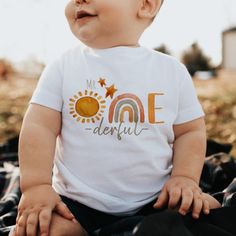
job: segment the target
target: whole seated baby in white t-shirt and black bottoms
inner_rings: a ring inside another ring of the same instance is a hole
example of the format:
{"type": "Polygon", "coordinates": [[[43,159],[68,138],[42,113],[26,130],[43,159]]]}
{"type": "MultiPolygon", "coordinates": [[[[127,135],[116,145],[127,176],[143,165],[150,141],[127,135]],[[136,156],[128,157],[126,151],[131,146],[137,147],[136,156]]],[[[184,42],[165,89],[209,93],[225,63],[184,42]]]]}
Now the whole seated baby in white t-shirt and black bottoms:
{"type": "Polygon", "coordinates": [[[199,188],[206,132],[191,77],[139,44],[161,5],[68,3],[84,46],[46,67],[25,114],[14,235],[84,236],[164,207],[198,218],[218,206],[199,188]]]}

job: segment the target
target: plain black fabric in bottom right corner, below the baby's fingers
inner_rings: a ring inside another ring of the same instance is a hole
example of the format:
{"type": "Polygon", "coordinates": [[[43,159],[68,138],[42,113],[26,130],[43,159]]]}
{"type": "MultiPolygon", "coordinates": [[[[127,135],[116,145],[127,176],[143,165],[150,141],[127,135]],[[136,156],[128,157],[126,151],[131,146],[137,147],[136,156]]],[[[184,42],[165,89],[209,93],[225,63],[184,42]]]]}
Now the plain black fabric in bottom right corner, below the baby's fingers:
{"type": "Polygon", "coordinates": [[[135,236],[236,236],[236,206],[212,209],[209,215],[193,219],[165,210],[145,217],[135,236]]]}

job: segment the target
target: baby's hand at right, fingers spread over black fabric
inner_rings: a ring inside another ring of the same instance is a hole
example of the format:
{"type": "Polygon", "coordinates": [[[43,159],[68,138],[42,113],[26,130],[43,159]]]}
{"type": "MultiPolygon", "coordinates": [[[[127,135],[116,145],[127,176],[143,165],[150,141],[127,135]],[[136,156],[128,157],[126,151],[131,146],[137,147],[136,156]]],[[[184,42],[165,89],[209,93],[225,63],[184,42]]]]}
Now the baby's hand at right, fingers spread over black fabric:
{"type": "Polygon", "coordinates": [[[200,187],[191,178],[172,176],[164,185],[155,208],[178,208],[180,214],[185,215],[192,210],[192,216],[198,218],[201,211],[209,214],[209,202],[202,194],[200,187]]]}

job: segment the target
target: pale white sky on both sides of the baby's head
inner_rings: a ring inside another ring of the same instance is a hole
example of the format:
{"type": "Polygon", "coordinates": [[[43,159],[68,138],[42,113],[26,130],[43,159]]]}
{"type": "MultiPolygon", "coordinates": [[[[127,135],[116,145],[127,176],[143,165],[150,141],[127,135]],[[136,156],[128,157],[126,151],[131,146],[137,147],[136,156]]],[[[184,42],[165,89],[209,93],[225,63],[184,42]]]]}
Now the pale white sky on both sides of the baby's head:
{"type": "MultiPolygon", "coordinates": [[[[80,43],[64,16],[69,0],[0,0],[0,58],[44,63],[80,43]]],[[[128,0],[127,0],[128,1],[128,0]]],[[[236,26],[235,0],[165,0],[140,44],[165,44],[180,58],[198,42],[214,64],[221,62],[221,33],[236,26]]]]}

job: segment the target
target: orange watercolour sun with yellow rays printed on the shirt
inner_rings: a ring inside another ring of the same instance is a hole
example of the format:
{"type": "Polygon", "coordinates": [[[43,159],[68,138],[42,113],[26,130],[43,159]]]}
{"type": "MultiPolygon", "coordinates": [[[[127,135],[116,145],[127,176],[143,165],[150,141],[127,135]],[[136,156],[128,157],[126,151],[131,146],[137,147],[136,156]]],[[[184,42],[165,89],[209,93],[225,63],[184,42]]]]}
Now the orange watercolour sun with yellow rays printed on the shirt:
{"type": "Polygon", "coordinates": [[[95,123],[102,118],[106,101],[93,91],[78,92],[70,98],[70,114],[81,123],[95,123]]]}

